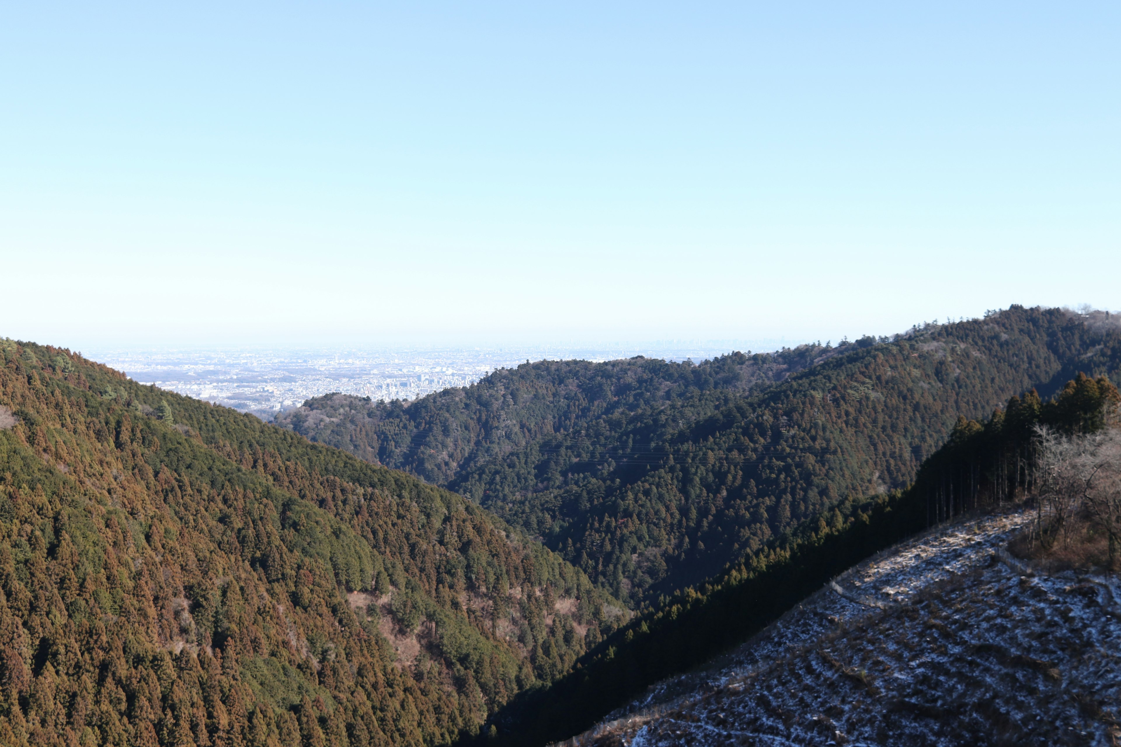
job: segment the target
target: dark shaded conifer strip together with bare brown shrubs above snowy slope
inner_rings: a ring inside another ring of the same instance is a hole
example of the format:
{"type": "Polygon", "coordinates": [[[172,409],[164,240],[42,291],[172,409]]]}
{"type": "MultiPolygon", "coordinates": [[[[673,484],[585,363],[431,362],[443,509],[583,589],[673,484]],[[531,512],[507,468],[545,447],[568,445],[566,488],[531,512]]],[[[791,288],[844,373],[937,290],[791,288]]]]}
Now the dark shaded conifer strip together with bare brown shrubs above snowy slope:
{"type": "Polygon", "coordinates": [[[1053,564],[1115,570],[1118,543],[1108,539],[1121,536],[1119,405],[1121,393],[1104,376],[1080,374],[1048,402],[1030,391],[983,423],[958,419],[907,489],[846,499],[804,522],[704,585],[643,609],[567,676],[518,695],[493,717],[500,744],[586,729],[648,685],[758,633],[872,553],[964,512],[1038,499],[1037,521],[1018,548],[1053,564]]]}

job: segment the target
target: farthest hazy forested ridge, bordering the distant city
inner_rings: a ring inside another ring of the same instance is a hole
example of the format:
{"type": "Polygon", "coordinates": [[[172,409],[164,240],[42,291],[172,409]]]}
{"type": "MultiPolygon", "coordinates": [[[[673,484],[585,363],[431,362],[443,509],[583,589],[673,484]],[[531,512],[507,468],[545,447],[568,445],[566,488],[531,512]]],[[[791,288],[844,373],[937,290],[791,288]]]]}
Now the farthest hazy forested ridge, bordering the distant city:
{"type": "Polygon", "coordinates": [[[464,387],[414,402],[326,394],[275,422],[387,467],[446,485],[511,449],[617,413],[636,412],[698,392],[748,392],[810,365],[824,348],[745,355],[700,365],[629,360],[527,362],[464,387]]]}

